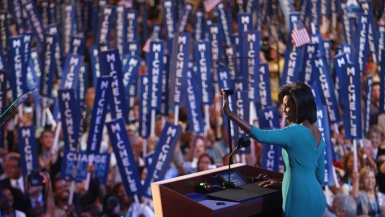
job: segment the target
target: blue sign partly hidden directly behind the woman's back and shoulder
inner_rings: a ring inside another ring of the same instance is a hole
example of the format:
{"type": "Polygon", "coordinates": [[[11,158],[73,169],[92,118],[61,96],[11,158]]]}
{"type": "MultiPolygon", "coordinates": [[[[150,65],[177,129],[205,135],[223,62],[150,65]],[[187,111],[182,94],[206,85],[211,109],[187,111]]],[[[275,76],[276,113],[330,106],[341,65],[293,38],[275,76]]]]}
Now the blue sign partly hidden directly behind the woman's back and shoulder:
{"type": "Polygon", "coordinates": [[[325,148],[325,180],[324,185],[334,185],[334,177],[333,177],[333,143],[330,135],[330,123],[329,118],[326,115],[327,107],[325,105],[317,104],[317,121],[315,121],[314,125],[317,126],[319,131],[322,134],[322,138],[326,143],[325,148]]]}

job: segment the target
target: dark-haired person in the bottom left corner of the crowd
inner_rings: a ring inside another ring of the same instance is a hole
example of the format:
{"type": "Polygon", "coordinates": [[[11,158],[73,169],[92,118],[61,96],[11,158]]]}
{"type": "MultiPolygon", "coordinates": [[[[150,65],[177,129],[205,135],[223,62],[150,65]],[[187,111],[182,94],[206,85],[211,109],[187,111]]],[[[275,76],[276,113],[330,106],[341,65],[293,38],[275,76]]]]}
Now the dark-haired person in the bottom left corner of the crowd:
{"type": "Polygon", "coordinates": [[[3,198],[0,200],[0,216],[5,217],[25,217],[25,213],[14,208],[15,199],[11,189],[2,189],[3,198]]]}

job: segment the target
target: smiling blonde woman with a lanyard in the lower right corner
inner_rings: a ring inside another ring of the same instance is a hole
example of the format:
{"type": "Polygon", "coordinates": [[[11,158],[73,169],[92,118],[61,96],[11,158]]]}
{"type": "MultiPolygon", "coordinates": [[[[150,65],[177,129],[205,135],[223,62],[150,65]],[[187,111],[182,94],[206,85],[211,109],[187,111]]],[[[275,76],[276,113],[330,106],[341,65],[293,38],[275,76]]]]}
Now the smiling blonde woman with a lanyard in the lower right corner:
{"type": "Polygon", "coordinates": [[[385,195],[376,191],[374,170],[364,167],[360,174],[355,172],[351,195],[357,200],[357,214],[368,216],[385,216],[385,195]]]}

